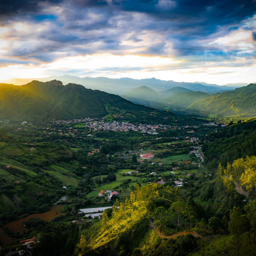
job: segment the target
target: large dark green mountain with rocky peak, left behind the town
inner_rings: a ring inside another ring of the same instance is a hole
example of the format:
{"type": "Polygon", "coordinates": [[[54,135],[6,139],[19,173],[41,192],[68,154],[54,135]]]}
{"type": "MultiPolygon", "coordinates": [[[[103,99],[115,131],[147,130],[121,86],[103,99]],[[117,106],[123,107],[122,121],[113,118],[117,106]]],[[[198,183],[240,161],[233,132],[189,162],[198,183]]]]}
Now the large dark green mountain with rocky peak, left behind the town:
{"type": "Polygon", "coordinates": [[[22,86],[0,84],[1,119],[102,118],[109,114],[132,114],[138,118],[143,116],[142,112],[151,111],[114,94],[86,89],[77,84],[63,86],[56,80],[32,81],[22,86]]]}

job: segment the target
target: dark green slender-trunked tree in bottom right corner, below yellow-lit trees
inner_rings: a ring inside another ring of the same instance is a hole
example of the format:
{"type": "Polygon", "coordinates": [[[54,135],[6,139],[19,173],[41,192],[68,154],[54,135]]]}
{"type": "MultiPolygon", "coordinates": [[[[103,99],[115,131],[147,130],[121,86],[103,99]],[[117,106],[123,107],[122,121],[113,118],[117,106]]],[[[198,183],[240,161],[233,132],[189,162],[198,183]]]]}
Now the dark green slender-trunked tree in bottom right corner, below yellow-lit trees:
{"type": "Polygon", "coordinates": [[[242,215],[242,209],[234,206],[230,210],[230,222],[228,222],[230,234],[234,235],[237,246],[237,254],[239,254],[239,244],[241,236],[248,229],[248,219],[245,215],[242,215]]]}

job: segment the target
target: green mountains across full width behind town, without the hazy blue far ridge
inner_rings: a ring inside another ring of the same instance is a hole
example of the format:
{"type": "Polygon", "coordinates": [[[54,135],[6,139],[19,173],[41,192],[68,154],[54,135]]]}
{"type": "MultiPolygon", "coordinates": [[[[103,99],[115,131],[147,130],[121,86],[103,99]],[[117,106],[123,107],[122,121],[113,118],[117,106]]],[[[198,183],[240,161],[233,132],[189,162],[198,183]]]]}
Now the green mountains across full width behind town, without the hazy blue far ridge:
{"type": "Polygon", "coordinates": [[[204,117],[252,115],[256,110],[256,84],[216,94],[179,86],[156,92],[140,86],[123,98],[78,84],[64,86],[58,80],[34,80],[22,86],[0,84],[0,90],[0,118],[11,120],[93,117],[130,121],[146,118],[154,108],[204,117]]]}

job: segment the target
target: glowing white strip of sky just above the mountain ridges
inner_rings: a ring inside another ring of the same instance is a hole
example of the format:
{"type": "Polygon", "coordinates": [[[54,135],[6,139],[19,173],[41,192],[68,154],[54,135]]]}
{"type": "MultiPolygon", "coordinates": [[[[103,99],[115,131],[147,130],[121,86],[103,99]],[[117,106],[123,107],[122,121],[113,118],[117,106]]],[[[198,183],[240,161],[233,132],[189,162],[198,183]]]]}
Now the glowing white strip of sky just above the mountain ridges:
{"type": "Polygon", "coordinates": [[[185,61],[162,58],[161,56],[93,54],[66,57],[50,64],[9,65],[0,68],[0,77],[1,80],[12,78],[46,78],[48,76],[61,76],[64,74],[94,78],[100,76],[107,78],[127,77],[132,79],[154,77],[160,80],[173,80],[176,82],[206,82],[219,85],[251,83],[256,80],[254,72],[256,65],[251,67],[202,66],[179,68],[179,66],[184,64],[186,64],[185,61]],[[77,74],[71,72],[74,69],[77,71],[77,74]],[[238,80],[237,77],[240,77],[240,79],[238,80]]]}

